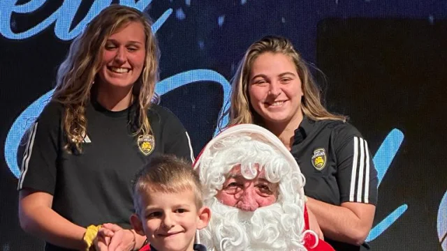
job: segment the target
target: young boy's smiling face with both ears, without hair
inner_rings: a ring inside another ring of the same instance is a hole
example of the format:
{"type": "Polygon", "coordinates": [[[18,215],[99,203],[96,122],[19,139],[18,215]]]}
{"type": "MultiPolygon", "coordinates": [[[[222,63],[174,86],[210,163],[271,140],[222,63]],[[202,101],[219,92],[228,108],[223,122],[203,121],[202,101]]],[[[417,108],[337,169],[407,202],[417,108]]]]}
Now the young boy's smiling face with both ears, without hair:
{"type": "Polygon", "coordinates": [[[143,192],[138,200],[140,215],[131,216],[133,229],[159,251],[193,250],[196,229],[210,220],[210,208],[197,208],[192,190],[143,192]]]}

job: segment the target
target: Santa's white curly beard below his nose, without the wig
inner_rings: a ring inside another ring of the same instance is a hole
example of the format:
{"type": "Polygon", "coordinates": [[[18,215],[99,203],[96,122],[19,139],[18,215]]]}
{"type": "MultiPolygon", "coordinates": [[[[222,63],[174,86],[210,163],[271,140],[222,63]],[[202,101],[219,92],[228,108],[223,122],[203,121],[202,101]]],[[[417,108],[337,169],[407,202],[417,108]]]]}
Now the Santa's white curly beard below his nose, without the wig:
{"type": "Polygon", "coordinates": [[[254,212],[210,201],[212,220],[199,231],[200,243],[211,251],[306,250],[302,212],[293,204],[272,204],[254,212]]]}

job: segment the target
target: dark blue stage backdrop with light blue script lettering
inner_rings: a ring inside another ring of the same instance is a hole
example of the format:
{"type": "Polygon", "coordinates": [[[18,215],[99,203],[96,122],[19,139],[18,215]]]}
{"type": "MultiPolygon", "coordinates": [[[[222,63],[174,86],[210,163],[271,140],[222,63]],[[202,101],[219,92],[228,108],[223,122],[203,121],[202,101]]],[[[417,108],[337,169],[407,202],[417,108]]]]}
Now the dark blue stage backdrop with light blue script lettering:
{"type": "MultiPolygon", "coordinates": [[[[0,0],[0,249],[43,250],[17,218],[17,146],[54,88],[71,40],[106,6],[149,13],[156,91],[191,135],[212,138],[247,47],[290,38],[320,68],[325,105],[350,116],[379,172],[374,250],[447,251],[447,1],[0,0]],[[324,81],[326,79],[326,81],[324,81]]],[[[318,73],[318,71],[315,71],[318,73]]]]}

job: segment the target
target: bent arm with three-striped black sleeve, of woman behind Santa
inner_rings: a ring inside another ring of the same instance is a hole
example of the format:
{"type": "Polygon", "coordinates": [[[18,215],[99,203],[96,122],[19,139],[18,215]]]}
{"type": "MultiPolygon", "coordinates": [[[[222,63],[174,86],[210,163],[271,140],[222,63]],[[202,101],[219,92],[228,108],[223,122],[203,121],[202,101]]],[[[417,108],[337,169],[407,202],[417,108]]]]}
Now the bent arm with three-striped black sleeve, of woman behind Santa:
{"type": "Polygon", "coordinates": [[[349,124],[335,128],[335,174],[340,204],[309,197],[307,206],[316,215],[323,234],[335,241],[361,245],[372,227],[377,201],[377,173],[367,142],[349,124]]]}

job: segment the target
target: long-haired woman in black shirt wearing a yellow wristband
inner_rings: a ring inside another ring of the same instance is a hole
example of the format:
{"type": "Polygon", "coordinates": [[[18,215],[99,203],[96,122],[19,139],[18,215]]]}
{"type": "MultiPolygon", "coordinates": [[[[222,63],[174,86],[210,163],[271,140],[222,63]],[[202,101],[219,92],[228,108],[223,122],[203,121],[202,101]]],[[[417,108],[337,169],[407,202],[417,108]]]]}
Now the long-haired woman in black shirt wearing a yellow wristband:
{"type": "Polygon", "coordinates": [[[21,161],[22,228],[45,250],[138,250],[131,180],[154,153],[193,159],[182,123],[154,103],[159,49],[139,10],[112,5],[71,44],[21,161]],[[101,246],[102,245],[102,246],[101,246]],[[107,247],[108,245],[108,247],[107,247]]]}

